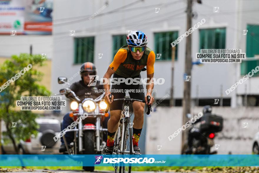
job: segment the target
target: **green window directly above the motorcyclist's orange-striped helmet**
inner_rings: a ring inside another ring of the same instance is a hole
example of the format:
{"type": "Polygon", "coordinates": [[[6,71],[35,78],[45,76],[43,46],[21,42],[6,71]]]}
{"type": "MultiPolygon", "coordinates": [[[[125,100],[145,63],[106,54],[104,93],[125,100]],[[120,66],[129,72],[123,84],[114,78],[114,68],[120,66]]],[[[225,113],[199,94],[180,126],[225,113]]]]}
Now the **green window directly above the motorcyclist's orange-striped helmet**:
{"type": "Polygon", "coordinates": [[[74,39],[74,63],[94,62],[94,37],[74,39]]]}

